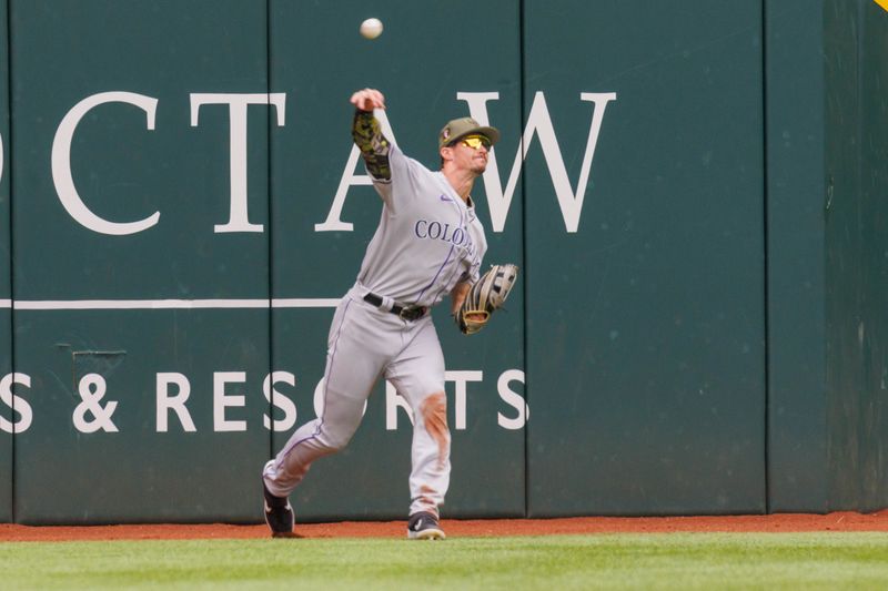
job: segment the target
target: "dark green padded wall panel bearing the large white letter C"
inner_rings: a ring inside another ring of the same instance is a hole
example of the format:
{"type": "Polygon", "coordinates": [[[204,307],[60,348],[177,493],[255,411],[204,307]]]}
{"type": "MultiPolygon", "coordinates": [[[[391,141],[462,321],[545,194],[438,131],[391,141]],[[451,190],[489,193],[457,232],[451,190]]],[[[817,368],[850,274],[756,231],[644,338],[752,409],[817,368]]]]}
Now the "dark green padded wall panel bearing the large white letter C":
{"type": "Polygon", "coordinates": [[[265,2],[11,22],[17,520],[261,519],[269,110],[236,105],[268,92],[265,2]]]}

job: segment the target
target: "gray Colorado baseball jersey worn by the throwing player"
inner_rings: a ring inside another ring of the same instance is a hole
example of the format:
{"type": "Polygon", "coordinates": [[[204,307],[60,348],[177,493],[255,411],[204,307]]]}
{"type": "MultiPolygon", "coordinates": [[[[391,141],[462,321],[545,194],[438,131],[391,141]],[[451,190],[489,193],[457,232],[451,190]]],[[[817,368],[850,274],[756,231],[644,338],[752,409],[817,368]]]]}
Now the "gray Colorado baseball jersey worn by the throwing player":
{"type": "Polygon", "coordinates": [[[432,306],[461,281],[478,279],[487,251],[484,228],[451,186],[392,145],[391,180],[375,179],[383,200],[380,225],[367,246],[357,282],[401,304],[432,306]]]}

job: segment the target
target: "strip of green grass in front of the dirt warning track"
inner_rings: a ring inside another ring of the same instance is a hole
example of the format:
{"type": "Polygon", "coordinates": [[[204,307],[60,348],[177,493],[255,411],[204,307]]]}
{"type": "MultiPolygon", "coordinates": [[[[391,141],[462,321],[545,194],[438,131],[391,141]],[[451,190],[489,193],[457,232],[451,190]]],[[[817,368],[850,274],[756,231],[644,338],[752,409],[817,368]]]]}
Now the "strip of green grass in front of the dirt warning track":
{"type": "Polygon", "coordinates": [[[0,543],[0,589],[885,589],[888,533],[0,543]]]}

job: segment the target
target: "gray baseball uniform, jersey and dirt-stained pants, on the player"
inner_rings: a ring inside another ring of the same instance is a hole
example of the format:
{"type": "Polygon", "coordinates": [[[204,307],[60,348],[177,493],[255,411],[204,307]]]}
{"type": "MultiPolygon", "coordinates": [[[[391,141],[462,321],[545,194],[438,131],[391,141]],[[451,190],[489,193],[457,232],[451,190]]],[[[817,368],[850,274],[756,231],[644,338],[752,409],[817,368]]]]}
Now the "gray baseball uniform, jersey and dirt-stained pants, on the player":
{"type": "Polygon", "coordinates": [[[349,442],[383,375],[413,408],[410,514],[437,516],[450,485],[451,436],[444,356],[427,308],[457,283],[477,281],[487,242],[471,200],[443,173],[385,147],[384,176],[365,153],[383,207],[357,281],[330,327],[323,411],[293,434],[263,477],[272,495],[287,497],[315,459],[349,442]]]}

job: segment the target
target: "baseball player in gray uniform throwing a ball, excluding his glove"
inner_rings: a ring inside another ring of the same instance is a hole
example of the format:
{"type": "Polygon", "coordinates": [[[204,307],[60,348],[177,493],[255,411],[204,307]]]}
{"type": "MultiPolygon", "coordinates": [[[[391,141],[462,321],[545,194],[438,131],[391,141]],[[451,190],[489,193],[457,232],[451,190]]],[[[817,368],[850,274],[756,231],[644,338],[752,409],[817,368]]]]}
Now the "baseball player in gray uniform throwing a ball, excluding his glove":
{"type": "MultiPolygon", "coordinates": [[[[382,375],[414,415],[407,537],[444,539],[438,508],[450,485],[451,435],[444,355],[430,308],[450,294],[458,317],[478,282],[487,242],[470,193],[500,132],[471,118],[448,122],[438,135],[441,170],[432,172],[383,136],[373,116],[385,109],[380,91],[357,91],[351,102],[352,135],[382,197],[382,215],[330,327],[323,411],[264,467],[265,521],[273,537],[293,536],[290,493],[314,460],[345,447],[382,375]]],[[[483,324],[484,314],[467,316],[483,324]]]]}

